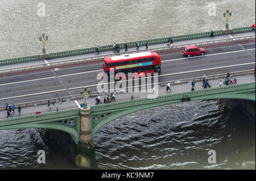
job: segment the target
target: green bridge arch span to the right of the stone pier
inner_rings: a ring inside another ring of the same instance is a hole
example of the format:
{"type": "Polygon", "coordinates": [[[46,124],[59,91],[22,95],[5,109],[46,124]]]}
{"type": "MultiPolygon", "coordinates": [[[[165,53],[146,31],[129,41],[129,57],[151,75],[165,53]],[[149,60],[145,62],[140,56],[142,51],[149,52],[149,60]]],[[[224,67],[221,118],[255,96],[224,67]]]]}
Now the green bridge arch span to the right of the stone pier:
{"type": "Polygon", "coordinates": [[[212,99],[245,99],[255,102],[255,82],[160,95],[156,98],[142,98],[100,106],[92,106],[92,113],[90,115],[92,140],[98,129],[117,119],[118,117],[129,115],[130,113],[141,110],[146,110],[147,108],[181,103],[181,99],[183,98],[190,98],[190,101],[212,99]],[[98,121],[94,121],[93,118],[95,116],[98,116],[98,121]]]}

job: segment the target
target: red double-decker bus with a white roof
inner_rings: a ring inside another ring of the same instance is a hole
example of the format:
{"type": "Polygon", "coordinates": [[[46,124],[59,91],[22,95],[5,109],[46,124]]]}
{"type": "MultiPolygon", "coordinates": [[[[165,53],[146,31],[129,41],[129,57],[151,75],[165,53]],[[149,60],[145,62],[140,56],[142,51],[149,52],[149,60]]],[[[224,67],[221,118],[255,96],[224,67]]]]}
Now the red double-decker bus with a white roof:
{"type": "Polygon", "coordinates": [[[161,59],[155,52],[106,57],[103,62],[103,70],[108,75],[108,79],[110,79],[111,68],[114,70],[115,81],[127,78],[128,73],[133,73],[133,78],[145,77],[147,73],[151,73],[153,76],[155,72],[161,73],[161,59]],[[117,75],[117,73],[122,74],[117,75]]]}

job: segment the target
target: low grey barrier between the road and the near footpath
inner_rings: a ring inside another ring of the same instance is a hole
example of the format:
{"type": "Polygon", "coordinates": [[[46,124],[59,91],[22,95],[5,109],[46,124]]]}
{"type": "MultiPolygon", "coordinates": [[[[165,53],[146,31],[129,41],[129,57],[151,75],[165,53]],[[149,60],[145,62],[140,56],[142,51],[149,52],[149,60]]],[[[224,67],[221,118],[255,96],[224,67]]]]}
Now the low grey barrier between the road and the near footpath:
{"type": "MultiPolygon", "coordinates": [[[[245,70],[245,71],[238,71],[238,72],[230,72],[230,74],[233,77],[240,77],[243,75],[248,75],[248,74],[253,74],[254,70],[245,70]],[[239,74],[238,74],[239,73],[239,74]]],[[[216,79],[220,79],[220,78],[226,78],[226,73],[223,74],[216,74],[216,75],[209,75],[209,80],[216,80],[216,79]]],[[[175,85],[184,85],[187,83],[192,82],[192,80],[194,79],[195,82],[202,82],[203,81],[203,77],[195,77],[195,78],[187,78],[187,79],[180,79],[180,80],[174,80],[174,81],[166,81],[166,82],[159,82],[158,83],[158,87],[166,87],[166,83],[169,82],[171,86],[175,86],[175,85]]],[[[141,86],[134,86],[135,87],[141,87],[141,86]]],[[[80,89],[80,88],[77,88],[80,89]]],[[[121,88],[123,89],[123,88],[121,88]]],[[[119,90],[121,90],[119,89],[119,90]]],[[[127,91],[128,88],[126,88],[127,91]]],[[[117,89],[118,90],[118,89],[117,89]]],[[[112,92],[112,90],[110,90],[110,92],[90,92],[90,94],[88,95],[88,98],[91,98],[93,96],[97,96],[97,94],[100,94],[100,96],[108,96],[110,95],[112,92]]],[[[115,92],[118,93],[118,92],[115,92]]],[[[123,93],[125,94],[126,92],[120,91],[119,93],[123,93]]],[[[61,100],[61,102],[68,102],[71,100],[81,100],[84,99],[82,95],[72,95],[72,96],[64,96],[64,97],[60,97],[59,98],[61,100]]],[[[47,101],[50,100],[51,104],[52,103],[56,103],[56,98],[53,99],[46,99],[46,100],[38,100],[35,102],[28,102],[28,103],[19,103],[19,104],[14,104],[15,107],[18,107],[18,105],[20,105],[21,107],[34,107],[34,105],[36,104],[37,106],[42,106],[42,105],[47,105],[47,101]]],[[[5,111],[5,106],[0,106],[0,111],[5,111]]]]}

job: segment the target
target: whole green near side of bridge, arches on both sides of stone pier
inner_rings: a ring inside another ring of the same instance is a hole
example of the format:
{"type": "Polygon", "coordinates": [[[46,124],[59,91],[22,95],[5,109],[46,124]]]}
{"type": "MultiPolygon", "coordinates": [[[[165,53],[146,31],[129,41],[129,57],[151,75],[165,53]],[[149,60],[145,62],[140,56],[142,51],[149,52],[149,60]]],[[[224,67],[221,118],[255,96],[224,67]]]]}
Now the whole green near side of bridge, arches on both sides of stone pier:
{"type": "MultiPolygon", "coordinates": [[[[91,133],[91,138],[93,140],[98,129],[118,117],[146,110],[147,108],[181,103],[181,99],[183,98],[190,98],[190,101],[210,99],[246,99],[255,102],[255,82],[160,95],[155,98],[126,100],[117,103],[92,106],[90,107],[91,110],[88,119],[90,123],[89,132],[91,133]],[[94,121],[93,118],[95,116],[99,117],[98,121],[94,121]]],[[[0,130],[26,128],[56,129],[67,132],[71,135],[76,144],[78,144],[82,134],[80,108],[0,120],[0,130]],[[75,121],[75,124],[71,125],[71,121],[75,121]]],[[[88,133],[85,134],[88,135],[88,133]]]]}

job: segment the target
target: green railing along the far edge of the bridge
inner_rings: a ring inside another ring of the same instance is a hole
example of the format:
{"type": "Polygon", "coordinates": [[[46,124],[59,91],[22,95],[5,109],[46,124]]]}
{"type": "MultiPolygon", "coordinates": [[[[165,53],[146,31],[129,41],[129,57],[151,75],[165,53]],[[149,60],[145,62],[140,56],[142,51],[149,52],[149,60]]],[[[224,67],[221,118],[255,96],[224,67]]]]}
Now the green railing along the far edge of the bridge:
{"type": "MultiPolygon", "coordinates": [[[[252,31],[251,27],[242,27],[242,28],[234,28],[233,33],[241,33],[241,32],[249,32],[252,31]]],[[[223,35],[223,30],[214,31],[214,36],[220,36],[223,35]]],[[[199,39],[202,37],[209,37],[210,32],[202,32],[202,33],[194,33],[189,35],[180,35],[180,36],[171,36],[172,40],[174,41],[181,41],[181,40],[190,40],[190,39],[199,39]]],[[[145,45],[148,41],[148,44],[160,44],[160,43],[167,43],[169,37],[162,37],[158,39],[149,39],[149,40],[141,40],[140,45],[145,45]]],[[[127,43],[129,47],[136,47],[137,41],[132,41],[127,43]]],[[[120,48],[125,47],[125,43],[119,44],[120,48]]],[[[64,52],[56,52],[56,53],[50,53],[50,58],[59,58],[59,57],[67,57],[67,56],[74,56],[78,54],[86,54],[86,53],[94,53],[96,52],[96,47],[90,47],[90,48],[83,48],[83,49],[76,49],[76,50],[68,50],[64,52]]],[[[112,50],[113,45],[104,45],[100,46],[101,51],[108,51],[112,50]]],[[[35,61],[40,60],[40,55],[35,56],[28,56],[28,57],[19,57],[19,58],[11,58],[6,60],[0,60],[0,65],[6,65],[6,64],[16,64],[16,63],[22,63],[22,62],[28,62],[28,61],[35,61]]]]}

